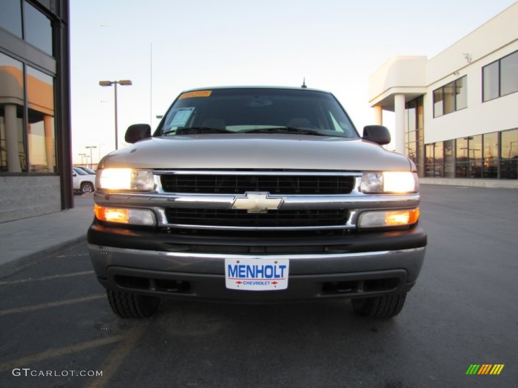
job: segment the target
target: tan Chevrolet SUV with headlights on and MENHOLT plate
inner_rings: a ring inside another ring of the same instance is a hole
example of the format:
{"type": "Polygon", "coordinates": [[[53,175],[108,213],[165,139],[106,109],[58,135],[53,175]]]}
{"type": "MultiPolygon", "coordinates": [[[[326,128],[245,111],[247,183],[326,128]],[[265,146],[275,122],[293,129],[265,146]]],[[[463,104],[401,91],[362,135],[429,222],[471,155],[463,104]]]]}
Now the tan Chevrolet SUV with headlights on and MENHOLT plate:
{"type": "Polygon", "coordinates": [[[380,146],[385,127],[359,136],[316,89],[211,87],[125,140],[99,163],[88,231],[117,315],[148,317],[161,297],[400,312],[426,234],[415,165],[380,146]]]}

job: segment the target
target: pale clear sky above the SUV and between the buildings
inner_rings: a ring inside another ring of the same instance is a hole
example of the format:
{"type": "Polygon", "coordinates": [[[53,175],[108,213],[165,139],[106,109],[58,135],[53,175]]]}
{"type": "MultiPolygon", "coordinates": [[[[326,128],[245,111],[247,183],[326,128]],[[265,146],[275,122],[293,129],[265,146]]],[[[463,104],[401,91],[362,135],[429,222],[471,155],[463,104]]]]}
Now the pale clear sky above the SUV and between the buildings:
{"type": "MultiPolygon", "coordinates": [[[[390,57],[432,58],[515,0],[70,0],[74,163],[159,124],[185,89],[300,86],[332,92],[362,132],[369,76],[390,57]],[[87,149],[86,146],[96,148],[87,149]]],[[[393,129],[393,115],[384,115],[393,129]]],[[[90,162],[90,161],[89,161],[90,162]]]]}

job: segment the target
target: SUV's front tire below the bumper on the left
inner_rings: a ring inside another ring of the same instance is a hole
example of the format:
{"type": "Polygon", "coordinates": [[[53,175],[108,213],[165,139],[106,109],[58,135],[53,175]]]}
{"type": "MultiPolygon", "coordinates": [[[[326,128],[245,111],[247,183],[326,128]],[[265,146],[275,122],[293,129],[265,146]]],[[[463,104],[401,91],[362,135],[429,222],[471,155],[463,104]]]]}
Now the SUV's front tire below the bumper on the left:
{"type": "Polygon", "coordinates": [[[110,307],[121,318],[151,317],[159,307],[160,297],[129,292],[106,291],[110,307]]]}

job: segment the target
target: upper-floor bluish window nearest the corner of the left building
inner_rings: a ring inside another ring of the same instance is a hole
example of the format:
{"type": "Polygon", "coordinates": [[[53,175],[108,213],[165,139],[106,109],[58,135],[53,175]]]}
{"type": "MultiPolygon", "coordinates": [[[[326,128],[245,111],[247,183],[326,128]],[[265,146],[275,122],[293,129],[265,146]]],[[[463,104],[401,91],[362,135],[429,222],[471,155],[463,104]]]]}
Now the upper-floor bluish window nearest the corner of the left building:
{"type": "Polygon", "coordinates": [[[23,2],[25,14],[25,40],[52,55],[52,23],[34,6],[23,2]]]}

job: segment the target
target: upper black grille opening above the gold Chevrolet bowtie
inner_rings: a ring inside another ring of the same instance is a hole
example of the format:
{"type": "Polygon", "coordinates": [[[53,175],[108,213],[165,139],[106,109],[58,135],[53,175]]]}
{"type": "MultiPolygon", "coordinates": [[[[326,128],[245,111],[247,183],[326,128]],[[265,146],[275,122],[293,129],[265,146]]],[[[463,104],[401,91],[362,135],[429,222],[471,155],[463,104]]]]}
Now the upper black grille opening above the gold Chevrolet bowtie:
{"type": "Polygon", "coordinates": [[[343,195],[354,187],[354,176],[303,174],[162,174],[164,192],[243,194],[264,191],[274,195],[343,195]]]}

